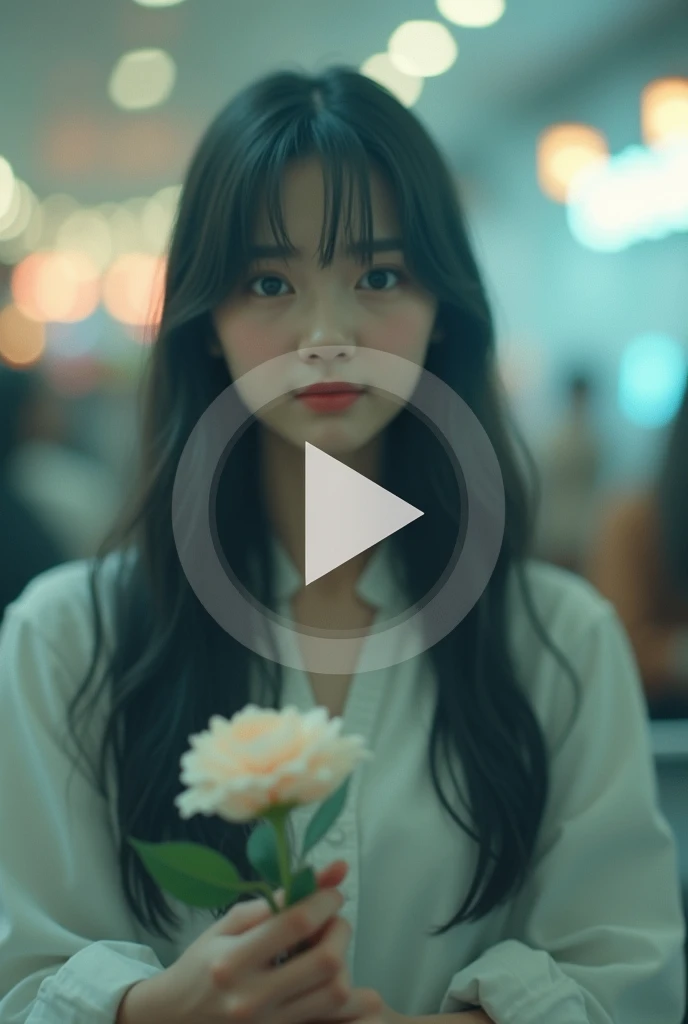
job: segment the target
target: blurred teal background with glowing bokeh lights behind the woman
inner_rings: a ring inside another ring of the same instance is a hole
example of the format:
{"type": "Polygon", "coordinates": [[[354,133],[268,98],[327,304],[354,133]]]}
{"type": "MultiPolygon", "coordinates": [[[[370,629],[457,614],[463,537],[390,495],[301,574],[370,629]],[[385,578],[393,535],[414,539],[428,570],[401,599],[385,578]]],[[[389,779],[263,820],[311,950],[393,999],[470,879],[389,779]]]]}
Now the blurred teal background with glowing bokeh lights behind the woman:
{"type": "Polygon", "coordinates": [[[621,614],[688,880],[686,0],[6,4],[0,612],[96,550],[132,479],[196,141],[257,76],[333,62],[456,173],[541,473],[535,554],[621,614]]]}

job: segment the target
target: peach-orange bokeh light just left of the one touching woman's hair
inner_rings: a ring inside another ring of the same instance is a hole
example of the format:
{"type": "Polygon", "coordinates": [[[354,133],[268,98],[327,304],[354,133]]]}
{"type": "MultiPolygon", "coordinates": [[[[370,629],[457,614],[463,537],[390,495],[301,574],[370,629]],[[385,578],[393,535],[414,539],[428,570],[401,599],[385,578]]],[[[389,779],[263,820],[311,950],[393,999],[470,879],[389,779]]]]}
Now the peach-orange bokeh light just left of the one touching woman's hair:
{"type": "Polygon", "coordinates": [[[99,275],[85,253],[38,252],[14,267],[12,295],[31,319],[74,324],[96,308],[99,275]]]}

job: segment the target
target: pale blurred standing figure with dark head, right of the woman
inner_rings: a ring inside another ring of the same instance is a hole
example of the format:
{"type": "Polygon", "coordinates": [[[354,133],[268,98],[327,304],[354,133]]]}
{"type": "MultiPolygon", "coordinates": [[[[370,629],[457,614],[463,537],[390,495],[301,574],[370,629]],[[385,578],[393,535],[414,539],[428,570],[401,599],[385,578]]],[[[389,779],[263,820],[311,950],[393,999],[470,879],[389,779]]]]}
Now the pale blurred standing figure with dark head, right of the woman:
{"type": "Polygon", "coordinates": [[[586,374],[566,384],[566,408],[540,454],[541,506],[535,544],[546,561],[579,572],[598,504],[600,443],[586,374]]]}

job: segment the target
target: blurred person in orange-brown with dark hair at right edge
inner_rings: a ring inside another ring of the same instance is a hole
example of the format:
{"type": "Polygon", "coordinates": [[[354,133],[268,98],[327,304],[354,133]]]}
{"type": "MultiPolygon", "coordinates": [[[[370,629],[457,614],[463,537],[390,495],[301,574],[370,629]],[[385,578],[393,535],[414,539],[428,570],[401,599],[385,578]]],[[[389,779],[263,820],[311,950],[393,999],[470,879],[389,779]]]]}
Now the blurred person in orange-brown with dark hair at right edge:
{"type": "Polygon", "coordinates": [[[688,381],[654,485],[610,503],[586,574],[626,625],[650,717],[688,718],[688,381]]]}

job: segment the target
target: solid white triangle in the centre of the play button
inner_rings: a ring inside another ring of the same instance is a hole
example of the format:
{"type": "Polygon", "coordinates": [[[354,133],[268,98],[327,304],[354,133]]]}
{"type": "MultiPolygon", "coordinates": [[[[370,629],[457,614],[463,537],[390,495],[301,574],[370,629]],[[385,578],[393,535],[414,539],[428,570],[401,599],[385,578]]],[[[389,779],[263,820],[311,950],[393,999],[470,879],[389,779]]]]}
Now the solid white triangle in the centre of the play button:
{"type": "Polygon", "coordinates": [[[306,441],[306,586],[422,515],[306,441]]]}

